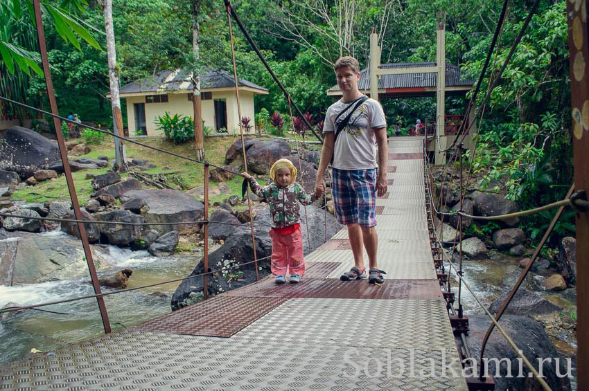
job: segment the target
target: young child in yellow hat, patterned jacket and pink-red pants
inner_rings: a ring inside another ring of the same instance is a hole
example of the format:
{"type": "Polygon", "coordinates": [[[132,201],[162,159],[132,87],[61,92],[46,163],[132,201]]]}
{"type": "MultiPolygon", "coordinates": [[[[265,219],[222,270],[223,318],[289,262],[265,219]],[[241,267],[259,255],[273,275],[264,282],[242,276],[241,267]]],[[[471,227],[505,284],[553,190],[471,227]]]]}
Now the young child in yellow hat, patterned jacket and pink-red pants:
{"type": "Polygon", "coordinates": [[[299,202],[308,205],[317,199],[316,194],[306,194],[299,183],[295,183],[297,169],[288,159],[276,161],[270,168],[270,176],[274,182],[262,187],[256,179],[242,172],[241,176],[249,181],[249,188],[258,197],[265,199],[270,205],[272,216],[272,257],[270,268],[276,276],[276,284],[286,282],[286,271],[289,270],[290,282],[297,283],[305,274],[303,260],[303,235],[299,222],[299,202]]]}

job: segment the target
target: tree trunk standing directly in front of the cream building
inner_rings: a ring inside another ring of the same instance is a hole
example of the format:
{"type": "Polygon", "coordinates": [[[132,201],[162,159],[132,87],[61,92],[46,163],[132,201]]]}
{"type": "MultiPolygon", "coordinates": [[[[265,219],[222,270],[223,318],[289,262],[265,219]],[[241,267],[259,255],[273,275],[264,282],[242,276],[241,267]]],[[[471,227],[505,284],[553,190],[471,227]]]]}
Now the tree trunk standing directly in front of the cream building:
{"type": "Polygon", "coordinates": [[[204,135],[202,131],[202,104],[200,100],[200,72],[198,71],[199,60],[199,28],[200,28],[200,6],[201,0],[192,0],[192,48],[193,48],[193,64],[192,64],[192,102],[194,110],[194,144],[196,149],[197,160],[204,160],[204,135]]]}

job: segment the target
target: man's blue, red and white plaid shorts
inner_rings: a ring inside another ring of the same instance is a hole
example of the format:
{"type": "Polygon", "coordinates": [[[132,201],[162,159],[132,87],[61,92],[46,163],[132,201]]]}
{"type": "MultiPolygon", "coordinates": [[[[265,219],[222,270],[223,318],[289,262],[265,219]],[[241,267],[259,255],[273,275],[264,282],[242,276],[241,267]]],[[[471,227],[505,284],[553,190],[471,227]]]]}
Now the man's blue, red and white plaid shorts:
{"type": "Polygon", "coordinates": [[[376,168],[332,169],[333,204],[340,224],[376,226],[376,168]]]}

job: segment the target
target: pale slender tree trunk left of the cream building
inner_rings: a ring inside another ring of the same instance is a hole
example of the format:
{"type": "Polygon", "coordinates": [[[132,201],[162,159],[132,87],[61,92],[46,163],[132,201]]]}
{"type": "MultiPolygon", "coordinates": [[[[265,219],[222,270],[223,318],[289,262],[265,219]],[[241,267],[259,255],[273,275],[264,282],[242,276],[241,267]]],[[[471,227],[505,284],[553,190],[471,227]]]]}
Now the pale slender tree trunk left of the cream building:
{"type": "MultiPolygon", "coordinates": [[[[118,96],[118,74],[116,71],[116,49],[114,46],[114,28],[112,26],[112,0],[104,0],[106,46],[108,57],[108,75],[110,83],[110,100],[112,104],[113,132],[123,137],[123,116],[121,99],[118,96]]],[[[114,138],[114,170],[127,171],[123,140],[114,138]]]]}

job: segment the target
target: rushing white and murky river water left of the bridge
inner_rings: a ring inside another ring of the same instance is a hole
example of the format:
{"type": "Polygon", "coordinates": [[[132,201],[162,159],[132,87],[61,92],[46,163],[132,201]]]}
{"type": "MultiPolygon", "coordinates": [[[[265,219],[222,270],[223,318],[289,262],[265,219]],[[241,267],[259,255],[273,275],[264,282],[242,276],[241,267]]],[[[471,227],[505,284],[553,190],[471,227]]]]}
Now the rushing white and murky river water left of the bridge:
{"type": "MultiPolygon", "coordinates": [[[[52,235],[56,239],[65,236],[58,231],[44,235],[52,235]]],[[[102,246],[98,251],[109,264],[108,270],[101,271],[100,275],[121,269],[133,271],[128,288],[184,278],[200,259],[200,255],[196,253],[193,256],[153,257],[147,251],[130,251],[115,246],[102,246]]],[[[175,282],[106,296],[104,300],[112,331],[120,331],[169,312],[170,298],[178,284],[179,282],[175,282]]],[[[103,291],[113,289],[103,287],[103,291]]],[[[0,308],[9,302],[30,305],[92,294],[94,289],[89,278],[17,287],[0,286],[0,308]]],[[[104,333],[98,304],[94,298],[55,304],[42,309],[66,314],[28,310],[17,314],[9,313],[0,322],[0,363],[17,360],[30,352],[30,349],[51,352],[67,343],[104,333]]]]}

